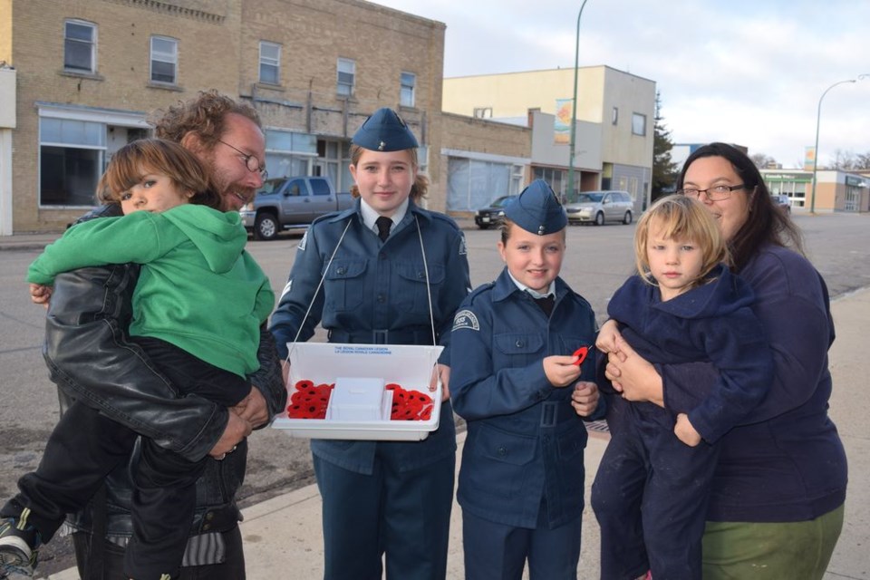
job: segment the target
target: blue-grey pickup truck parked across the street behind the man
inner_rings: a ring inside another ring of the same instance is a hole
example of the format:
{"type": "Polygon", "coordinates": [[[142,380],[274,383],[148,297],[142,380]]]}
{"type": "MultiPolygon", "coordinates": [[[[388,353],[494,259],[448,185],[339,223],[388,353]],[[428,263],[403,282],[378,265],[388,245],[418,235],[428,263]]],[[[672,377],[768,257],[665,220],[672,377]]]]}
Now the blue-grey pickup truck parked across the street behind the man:
{"type": "Polygon", "coordinates": [[[351,194],[336,193],[327,178],[275,178],[267,179],[239,214],[255,239],[275,239],[284,229],[308,227],[324,214],[352,206],[351,194]]]}

